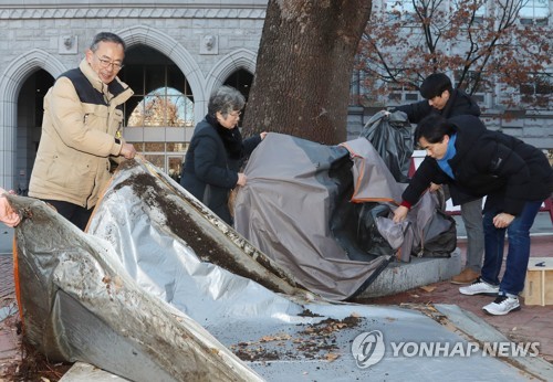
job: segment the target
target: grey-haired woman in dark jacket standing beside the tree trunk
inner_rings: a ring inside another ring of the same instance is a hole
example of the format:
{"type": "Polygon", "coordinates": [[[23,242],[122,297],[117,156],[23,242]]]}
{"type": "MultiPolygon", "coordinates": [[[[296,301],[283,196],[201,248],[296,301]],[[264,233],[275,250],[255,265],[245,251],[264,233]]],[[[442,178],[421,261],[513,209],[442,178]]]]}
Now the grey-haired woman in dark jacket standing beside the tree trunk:
{"type": "Polygon", "coordinates": [[[238,128],[246,99],[233,87],[221,86],[209,98],[208,114],[194,130],[180,184],[228,224],[229,193],[244,185],[247,177],[239,172],[241,161],[265,137],[267,132],[242,140],[238,128]]]}

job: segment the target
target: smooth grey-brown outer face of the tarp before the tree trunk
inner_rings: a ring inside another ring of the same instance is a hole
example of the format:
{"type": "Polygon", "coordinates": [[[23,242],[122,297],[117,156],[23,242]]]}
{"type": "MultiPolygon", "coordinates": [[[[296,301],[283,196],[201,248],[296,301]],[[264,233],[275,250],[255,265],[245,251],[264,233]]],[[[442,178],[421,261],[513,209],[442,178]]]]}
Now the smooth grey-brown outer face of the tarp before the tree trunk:
{"type": "Polygon", "coordinates": [[[343,147],[269,134],[248,161],[248,183],[234,206],[238,232],[307,289],[332,299],[352,296],[389,261],[352,261],[331,232],[340,195],[328,173],[341,158],[348,160],[343,147]]]}

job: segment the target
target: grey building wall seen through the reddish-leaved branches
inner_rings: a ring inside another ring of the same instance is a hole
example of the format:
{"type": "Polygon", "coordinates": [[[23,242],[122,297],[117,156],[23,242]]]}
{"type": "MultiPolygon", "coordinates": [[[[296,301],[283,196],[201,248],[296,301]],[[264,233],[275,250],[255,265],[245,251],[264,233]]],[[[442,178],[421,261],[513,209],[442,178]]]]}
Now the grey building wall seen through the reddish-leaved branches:
{"type": "MultiPolygon", "coordinates": [[[[426,4],[429,12],[441,10],[448,12],[448,7],[456,8],[456,1],[417,1],[417,4],[426,4]]],[[[479,17],[491,17],[498,19],[514,13],[514,22],[517,26],[533,28],[540,26],[544,29],[542,39],[545,45],[549,44],[549,51],[553,46],[553,0],[471,0],[459,3],[478,6],[476,10],[476,19],[479,17]],[[503,8],[502,6],[505,6],[503,8]],[[519,9],[520,8],[520,9],[519,9]],[[504,12],[504,13],[503,13],[504,12]]],[[[373,0],[373,14],[385,14],[392,22],[401,20],[401,28],[398,28],[398,33],[408,34],[408,39],[420,41],[420,45],[426,45],[422,30],[418,24],[420,19],[416,15],[413,0],[373,0]],[[396,11],[398,13],[393,13],[396,11]],[[413,22],[414,21],[414,22],[413,22]]],[[[474,21],[478,24],[478,20],[474,21]]],[[[435,26],[449,25],[449,23],[435,26]]],[[[445,26],[447,29],[447,26],[445,26]]],[[[430,39],[437,39],[439,32],[432,30],[430,39]],[[436,33],[436,34],[434,34],[436,33]]],[[[437,51],[445,50],[448,53],[461,53],[465,56],[466,50],[470,49],[470,42],[462,40],[463,34],[458,31],[456,34],[456,43],[451,44],[441,42],[441,45],[436,46],[437,51]]],[[[405,36],[405,35],[403,35],[405,36]]],[[[478,40],[478,39],[474,39],[478,40]]],[[[478,41],[477,41],[478,44],[478,41]]],[[[379,46],[382,49],[382,46],[379,46]]],[[[401,47],[399,47],[401,49],[401,47]]],[[[394,49],[383,50],[384,54],[394,54],[394,49]]],[[[551,54],[550,54],[551,55],[551,54]]],[[[404,55],[399,54],[400,57],[404,55]]],[[[393,60],[386,62],[389,66],[394,64],[393,60]]],[[[392,66],[393,67],[393,66],[392,66]]],[[[455,71],[447,72],[453,81],[458,79],[458,74],[455,71]]],[[[474,75],[469,72],[468,75],[474,75]]],[[[484,120],[489,129],[501,130],[523,139],[528,144],[534,145],[544,150],[549,150],[551,161],[553,162],[553,64],[546,68],[546,73],[532,73],[533,82],[519,84],[517,88],[502,89],[504,86],[494,82],[493,74],[484,73],[483,76],[490,81],[491,91],[476,93],[473,97],[482,109],[481,118],[484,120]],[[489,78],[487,76],[490,76],[489,78]],[[512,98],[511,98],[512,97],[512,98]],[[531,98],[544,98],[547,102],[544,105],[535,106],[528,102],[531,98]],[[505,106],[504,102],[512,99],[515,106],[505,106]]],[[[371,92],[363,88],[363,72],[354,71],[352,77],[352,98],[359,99],[364,95],[369,95],[371,92]]],[[[361,129],[367,116],[372,116],[375,110],[383,107],[393,107],[396,105],[405,105],[421,100],[421,96],[413,88],[401,87],[398,84],[390,84],[388,92],[384,96],[372,96],[372,100],[364,103],[364,107],[349,108],[349,132],[355,129],[361,129]]]]}

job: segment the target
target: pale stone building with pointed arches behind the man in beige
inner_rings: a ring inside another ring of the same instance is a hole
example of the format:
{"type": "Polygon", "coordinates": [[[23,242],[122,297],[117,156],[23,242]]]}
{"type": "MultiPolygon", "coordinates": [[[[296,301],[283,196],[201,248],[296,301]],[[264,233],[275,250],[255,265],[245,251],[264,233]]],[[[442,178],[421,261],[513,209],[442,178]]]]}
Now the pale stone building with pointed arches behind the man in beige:
{"type": "MultiPolygon", "coordinates": [[[[248,95],[265,7],[267,0],[0,0],[0,185],[27,190],[43,97],[101,31],[127,44],[119,77],[135,96],[125,105],[125,138],[178,174],[210,93],[229,84],[248,95]]],[[[351,115],[355,135],[366,113],[353,106],[351,115]]],[[[549,113],[500,127],[551,148],[551,118],[549,113]]]]}

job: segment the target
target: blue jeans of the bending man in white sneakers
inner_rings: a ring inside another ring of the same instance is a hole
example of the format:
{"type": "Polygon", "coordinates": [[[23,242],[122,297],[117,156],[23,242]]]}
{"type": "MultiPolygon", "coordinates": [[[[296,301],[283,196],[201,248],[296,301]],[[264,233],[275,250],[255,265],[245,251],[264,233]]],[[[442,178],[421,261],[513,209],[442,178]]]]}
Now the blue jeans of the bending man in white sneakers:
{"type": "Polygon", "coordinates": [[[519,216],[507,229],[497,229],[493,217],[501,211],[490,209],[483,215],[484,263],[481,278],[491,285],[499,285],[500,294],[519,295],[524,289],[530,257],[530,227],[540,211],[542,202],[526,202],[519,216]],[[503,263],[505,232],[509,240],[505,273],[501,283],[499,272],[503,263]]]}

